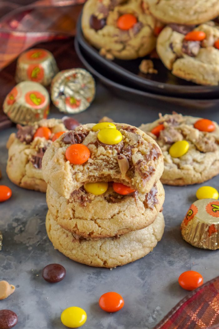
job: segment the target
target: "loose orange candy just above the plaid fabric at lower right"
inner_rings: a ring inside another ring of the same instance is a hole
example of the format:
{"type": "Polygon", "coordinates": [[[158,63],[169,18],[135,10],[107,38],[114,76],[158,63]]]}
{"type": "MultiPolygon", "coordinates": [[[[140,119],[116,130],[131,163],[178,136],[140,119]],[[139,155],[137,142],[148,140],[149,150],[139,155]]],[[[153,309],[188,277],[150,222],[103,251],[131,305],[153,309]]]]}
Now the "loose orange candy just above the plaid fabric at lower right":
{"type": "Polygon", "coordinates": [[[195,271],[186,271],[179,276],[178,282],[180,287],[191,291],[203,285],[203,276],[195,271]]]}

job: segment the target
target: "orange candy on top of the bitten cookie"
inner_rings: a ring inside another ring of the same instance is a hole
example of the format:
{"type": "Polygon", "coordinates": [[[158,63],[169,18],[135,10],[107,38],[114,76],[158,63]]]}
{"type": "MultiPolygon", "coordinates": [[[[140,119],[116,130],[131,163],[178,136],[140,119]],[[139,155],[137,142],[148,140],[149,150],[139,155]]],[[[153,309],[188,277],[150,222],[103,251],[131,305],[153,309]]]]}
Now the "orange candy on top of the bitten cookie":
{"type": "Polygon", "coordinates": [[[73,144],[65,151],[65,157],[71,164],[84,164],[90,158],[90,150],[84,144],[73,144]]]}

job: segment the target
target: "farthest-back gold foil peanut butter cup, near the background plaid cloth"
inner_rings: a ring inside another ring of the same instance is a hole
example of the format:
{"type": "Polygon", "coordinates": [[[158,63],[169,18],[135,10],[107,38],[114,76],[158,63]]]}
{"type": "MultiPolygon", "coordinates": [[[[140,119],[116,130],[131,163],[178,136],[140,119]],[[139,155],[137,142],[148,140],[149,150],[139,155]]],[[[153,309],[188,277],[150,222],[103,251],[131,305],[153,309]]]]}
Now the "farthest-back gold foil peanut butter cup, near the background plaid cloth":
{"type": "Polygon", "coordinates": [[[49,86],[58,67],[55,58],[46,49],[35,48],[22,53],[16,66],[15,80],[38,82],[43,86],[49,86]]]}

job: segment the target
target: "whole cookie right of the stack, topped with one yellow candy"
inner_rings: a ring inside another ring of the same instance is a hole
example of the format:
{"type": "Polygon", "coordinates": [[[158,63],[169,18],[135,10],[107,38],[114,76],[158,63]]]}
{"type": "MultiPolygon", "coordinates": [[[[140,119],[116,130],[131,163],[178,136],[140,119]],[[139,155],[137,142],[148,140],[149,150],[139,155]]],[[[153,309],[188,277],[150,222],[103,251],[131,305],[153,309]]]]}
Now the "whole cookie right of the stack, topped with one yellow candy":
{"type": "Polygon", "coordinates": [[[154,137],[163,152],[163,184],[199,184],[219,174],[219,126],[214,122],[213,132],[199,131],[193,126],[199,119],[181,114],[160,114],[158,120],[140,126],[140,129],[154,137]],[[164,124],[164,130],[156,137],[151,130],[159,124],[164,124]],[[178,140],[188,141],[189,149],[180,158],[173,158],[169,148],[178,140]]]}

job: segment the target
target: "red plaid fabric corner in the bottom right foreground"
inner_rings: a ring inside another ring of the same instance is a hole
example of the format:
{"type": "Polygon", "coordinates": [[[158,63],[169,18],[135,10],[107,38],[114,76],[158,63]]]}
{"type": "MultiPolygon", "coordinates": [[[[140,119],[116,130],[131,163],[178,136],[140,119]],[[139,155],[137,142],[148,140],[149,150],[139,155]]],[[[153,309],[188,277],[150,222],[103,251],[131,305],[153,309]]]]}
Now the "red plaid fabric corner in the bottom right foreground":
{"type": "Polygon", "coordinates": [[[182,299],[154,329],[219,328],[219,276],[182,299]]]}

